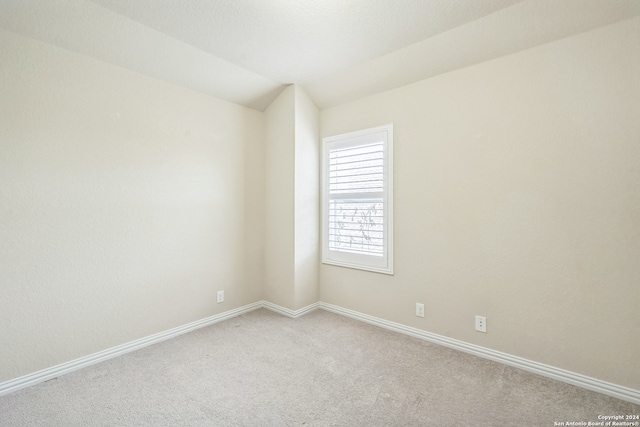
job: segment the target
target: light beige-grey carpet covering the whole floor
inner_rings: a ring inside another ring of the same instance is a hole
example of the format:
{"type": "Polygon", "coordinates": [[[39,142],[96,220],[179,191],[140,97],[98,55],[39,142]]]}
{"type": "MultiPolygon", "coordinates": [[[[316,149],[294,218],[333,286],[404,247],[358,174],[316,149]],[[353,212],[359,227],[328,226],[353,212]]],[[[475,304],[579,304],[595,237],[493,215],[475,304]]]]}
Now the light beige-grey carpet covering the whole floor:
{"type": "Polygon", "coordinates": [[[3,427],[555,426],[626,414],[640,406],[324,310],[256,310],[0,397],[3,427]]]}

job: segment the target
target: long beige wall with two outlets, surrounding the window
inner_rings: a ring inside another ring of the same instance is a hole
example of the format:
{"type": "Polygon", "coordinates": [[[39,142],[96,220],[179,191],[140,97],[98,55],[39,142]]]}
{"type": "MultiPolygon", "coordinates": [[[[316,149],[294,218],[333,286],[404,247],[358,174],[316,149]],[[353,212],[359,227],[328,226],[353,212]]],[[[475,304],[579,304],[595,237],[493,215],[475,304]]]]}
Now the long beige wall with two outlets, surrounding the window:
{"type": "Polygon", "coordinates": [[[321,300],[640,389],[638,40],[634,18],[323,110],[323,137],[394,123],[395,275],[322,265],[321,300]]]}

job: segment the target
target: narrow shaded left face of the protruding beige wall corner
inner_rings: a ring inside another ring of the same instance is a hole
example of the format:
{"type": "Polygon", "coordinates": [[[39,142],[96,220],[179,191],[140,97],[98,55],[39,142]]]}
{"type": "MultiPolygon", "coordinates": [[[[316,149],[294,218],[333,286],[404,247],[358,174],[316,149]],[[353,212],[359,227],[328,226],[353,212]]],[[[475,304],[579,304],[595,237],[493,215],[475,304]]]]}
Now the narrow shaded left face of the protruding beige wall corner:
{"type": "Polygon", "coordinates": [[[295,87],[265,111],[265,288],[264,298],[295,306],[294,178],[295,87]]]}

